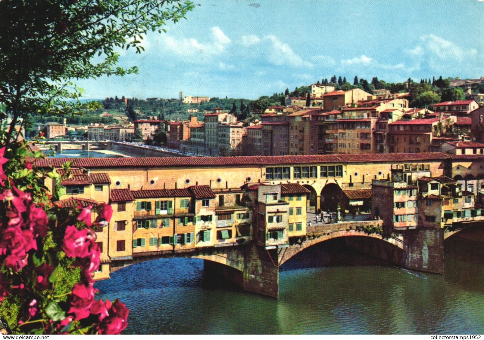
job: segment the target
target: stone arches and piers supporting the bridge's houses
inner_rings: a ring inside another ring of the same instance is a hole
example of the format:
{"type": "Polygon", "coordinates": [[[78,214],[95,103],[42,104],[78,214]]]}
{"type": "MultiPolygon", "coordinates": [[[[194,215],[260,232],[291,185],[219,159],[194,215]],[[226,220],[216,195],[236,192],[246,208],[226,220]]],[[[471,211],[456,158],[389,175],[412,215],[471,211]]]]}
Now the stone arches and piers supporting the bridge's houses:
{"type": "Polygon", "coordinates": [[[132,259],[113,259],[111,271],[160,257],[200,258],[204,260],[204,270],[208,275],[223,277],[245,290],[277,298],[280,266],[320,242],[342,237],[349,247],[395,265],[443,274],[444,237],[462,230],[444,232],[443,229],[419,228],[388,238],[377,232],[370,233],[372,227],[380,227],[381,224],[379,220],[353,221],[308,227],[306,240],[269,250],[256,241],[249,241],[228,247],[135,253],[132,259]]]}

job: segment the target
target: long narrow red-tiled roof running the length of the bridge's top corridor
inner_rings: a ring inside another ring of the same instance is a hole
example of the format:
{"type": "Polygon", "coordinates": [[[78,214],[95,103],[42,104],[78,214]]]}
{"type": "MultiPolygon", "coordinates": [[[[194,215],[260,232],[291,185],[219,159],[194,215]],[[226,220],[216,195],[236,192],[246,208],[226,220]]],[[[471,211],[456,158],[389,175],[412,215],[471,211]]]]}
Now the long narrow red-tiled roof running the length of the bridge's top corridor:
{"type": "MultiPolygon", "coordinates": [[[[84,168],[112,167],[172,167],[172,166],[225,166],[225,165],[271,165],[302,163],[338,163],[338,162],[388,162],[404,160],[451,159],[462,156],[441,152],[411,154],[356,154],[356,155],[307,155],[307,156],[230,156],[230,157],[103,157],[103,158],[44,158],[37,159],[38,167],[61,167],[65,162],[84,168]]],[[[482,156],[481,156],[482,157],[482,156]]]]}

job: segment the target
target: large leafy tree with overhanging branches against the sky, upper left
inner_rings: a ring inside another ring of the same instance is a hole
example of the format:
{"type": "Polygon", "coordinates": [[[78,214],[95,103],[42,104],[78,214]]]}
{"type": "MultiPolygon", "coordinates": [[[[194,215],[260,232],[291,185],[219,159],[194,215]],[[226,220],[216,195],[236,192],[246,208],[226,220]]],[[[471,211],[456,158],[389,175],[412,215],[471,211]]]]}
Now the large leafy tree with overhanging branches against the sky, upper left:
{"type": "Polygon", "coordinates": [[[91,109],[72,80],[136,73],[117,66],[117,48],[140,53],[148,31],[161,33],[193,8],[174,0],[0,1],[0,102],[13,118],[6,143],[32,112],[91,109]]]}

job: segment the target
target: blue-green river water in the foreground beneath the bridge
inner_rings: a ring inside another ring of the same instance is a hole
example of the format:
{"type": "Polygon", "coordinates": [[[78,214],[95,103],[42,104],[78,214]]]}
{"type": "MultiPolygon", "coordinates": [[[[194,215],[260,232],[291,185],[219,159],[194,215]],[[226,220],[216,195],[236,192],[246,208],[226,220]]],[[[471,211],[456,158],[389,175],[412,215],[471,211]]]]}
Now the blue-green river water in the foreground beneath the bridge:
{"type": "Polygon", "coordinates": [[[139,263],[95,286],[129,307],[125,334],[483,334],[483,243],[454,236],[446,252],[437,275],[325,241],[281,267],[278,300],[213,283],[190,258],[139,263]]]}

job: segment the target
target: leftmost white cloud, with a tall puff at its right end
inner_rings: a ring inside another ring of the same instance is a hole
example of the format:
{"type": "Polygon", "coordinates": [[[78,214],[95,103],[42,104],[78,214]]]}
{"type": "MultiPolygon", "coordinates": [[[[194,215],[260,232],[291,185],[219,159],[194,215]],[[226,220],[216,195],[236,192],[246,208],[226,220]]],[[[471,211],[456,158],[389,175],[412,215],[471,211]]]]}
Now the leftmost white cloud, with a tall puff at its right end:
{"type": "Polygon", "coordinates": [[[203,53],[205,55],[220,55],[226,50],[230,39],[219,27],[211,28],[211,41],[199,42],[195,38],[183,38],[177,40],[171,36],[164,36],[166,47],[181,55],[193,55],[203,53]]]}

